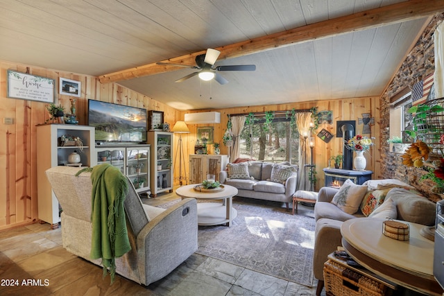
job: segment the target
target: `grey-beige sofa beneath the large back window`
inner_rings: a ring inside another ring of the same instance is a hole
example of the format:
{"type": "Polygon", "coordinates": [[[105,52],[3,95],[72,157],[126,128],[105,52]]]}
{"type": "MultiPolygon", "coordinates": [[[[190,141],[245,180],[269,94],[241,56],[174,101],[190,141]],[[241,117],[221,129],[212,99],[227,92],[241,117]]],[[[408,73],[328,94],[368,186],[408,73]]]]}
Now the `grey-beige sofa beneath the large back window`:
{"type": "MultiPolygon", "coordinates": [[[[289,202],[291,202],[298,184],[298,166],[291,165],[289,162],[273,164],[271,162],[259,161],[244,162],[239,165],[244,164],[248,167],[248,176],[243,179],[232,178],[228,175],[228,171],[221,171],[219,173],[219,181],[221,184],[236,187],[238,190],[237,196],[244,198],[285,202],[288,210],[289,202]],[[273,166],[276,169],[278,165],[291,166],[294,170],[287,180],[283,182],[271,181],[273,166]]],[[[228,164],[228,166],[230,166],[230,164],[228,164]]]]}

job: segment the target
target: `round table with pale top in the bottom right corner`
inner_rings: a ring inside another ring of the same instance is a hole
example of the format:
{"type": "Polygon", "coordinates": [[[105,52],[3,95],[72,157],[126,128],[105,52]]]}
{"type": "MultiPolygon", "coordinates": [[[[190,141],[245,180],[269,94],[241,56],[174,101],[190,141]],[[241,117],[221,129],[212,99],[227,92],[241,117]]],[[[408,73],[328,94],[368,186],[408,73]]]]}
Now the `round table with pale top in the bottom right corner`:
{"type": "Polygon", "coordinates": [[[441,295],[443,289],[433,275],[434,242],[419,233],[424,225],[407,223],[409,241],[397,241],[382,234],[384,220],[356,218],[345,221],[341,234],[348,254],[368,270],[395,284],[427,295],[441,295]]]}

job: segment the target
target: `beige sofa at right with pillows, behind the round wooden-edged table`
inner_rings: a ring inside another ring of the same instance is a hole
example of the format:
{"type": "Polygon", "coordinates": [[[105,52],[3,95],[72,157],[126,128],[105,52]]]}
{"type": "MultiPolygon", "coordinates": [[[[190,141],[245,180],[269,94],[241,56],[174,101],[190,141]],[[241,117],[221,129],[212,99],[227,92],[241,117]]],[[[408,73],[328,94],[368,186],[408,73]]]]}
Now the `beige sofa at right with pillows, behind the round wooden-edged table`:
{"type": "MultiPolygon", "coordinates": [[[[436,204],[427,200],[427,198],[417,195],[413,192],[414,188],[398,180],[369,180],[363,185],[368,186],[367,193],[373,193],[376,190],[388,189],[384,202],[393,204],[393,216],[398,220],[404,220],[411,223],[422,225],[434,225],[436,204]]],[[[318,193],[318,202],[314,207],[314,216],[316,219],[315,241],[313,254],[313,274],[318,279],[316,295],[321,295],[324,286],[323,267],[327,261],[328,254],[331,254],[341,245],[341,225],[343,221],[352,218],[365,217],[359,209],[355,214],[347,214],[332,203],[334,195],[339,189],[323,187],[318,193]]],[[[382,204],[384,204],[384,202],[382,204]]],[[[387,206],[388,204],[386,204],[387,206]]],[[[379,206],[382,209],[382,205],[379,206]]],[[[376,208],[378,209],[378,208],[376,208]]],[[[373,213],[375,218],[386,218],[386,212],[378,214],[373,213]]],[[[370,214],[369,217],[372,217],[370,214]]]]}

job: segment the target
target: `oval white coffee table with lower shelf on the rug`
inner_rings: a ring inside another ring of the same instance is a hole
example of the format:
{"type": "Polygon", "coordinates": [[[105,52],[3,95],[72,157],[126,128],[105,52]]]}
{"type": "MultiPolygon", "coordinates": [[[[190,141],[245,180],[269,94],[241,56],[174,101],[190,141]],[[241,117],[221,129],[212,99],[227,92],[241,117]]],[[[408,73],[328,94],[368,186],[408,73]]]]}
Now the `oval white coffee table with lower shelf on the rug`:
{"type": "Polygon", "coordinates": [[[223,185],[223,190],[217,192],[198,192],[191,184],[181,186],[176,190],[182,200],[184,198],[196,198],[196,200],[222,200],[219,202],[198,202],[197,220],[198,225],[220,225],[227,223],[231,226],[232,220],[237,217],[237,211],[232,207],[232,197],[237,195],[237,188],[223,185]]]}

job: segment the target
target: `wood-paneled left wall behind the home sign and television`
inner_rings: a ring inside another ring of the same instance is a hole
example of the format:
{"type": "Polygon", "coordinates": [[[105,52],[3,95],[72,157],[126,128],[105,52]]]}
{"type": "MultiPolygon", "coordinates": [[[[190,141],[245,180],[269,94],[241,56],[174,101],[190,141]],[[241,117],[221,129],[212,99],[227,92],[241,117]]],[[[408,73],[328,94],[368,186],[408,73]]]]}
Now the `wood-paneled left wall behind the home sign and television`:
{"type": "Polygon", "coordinates": [[[0,230],[37,220],[36,153],[39,139],[36,125],[49,119],[48,104],[6,97],[8,69],[56,80],[55,103],[62,104],[67,111],[71,107],[71,97],[58,94],[59,78],[80,81],[81,95],[76,100],[76,115],[81,125],[87,124],[89,98],[163,111],[164,120],[171,124],[182,116],[182,112],[116,83],[102,85],[93,76],[0,61],[0,230]],[[12,118],[13,124],[6,125],[5,118],[12,118]]]}

